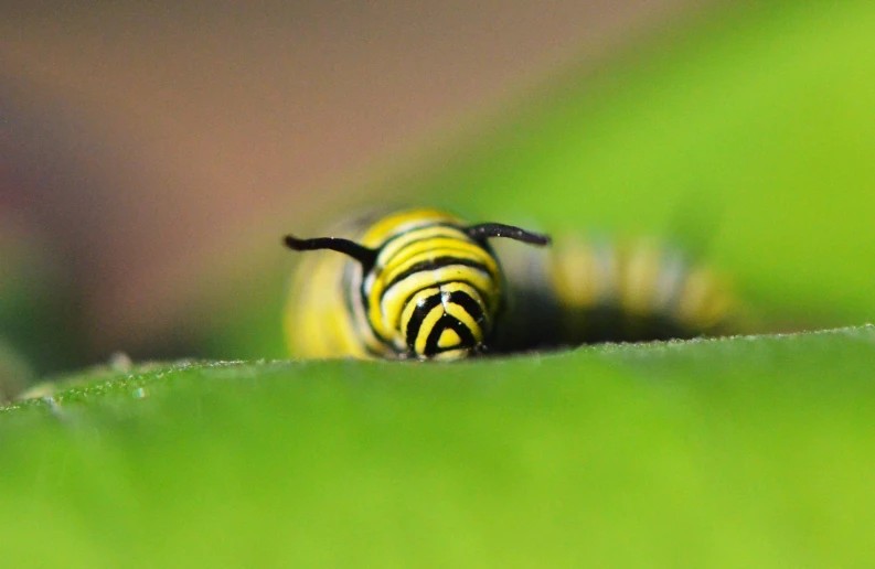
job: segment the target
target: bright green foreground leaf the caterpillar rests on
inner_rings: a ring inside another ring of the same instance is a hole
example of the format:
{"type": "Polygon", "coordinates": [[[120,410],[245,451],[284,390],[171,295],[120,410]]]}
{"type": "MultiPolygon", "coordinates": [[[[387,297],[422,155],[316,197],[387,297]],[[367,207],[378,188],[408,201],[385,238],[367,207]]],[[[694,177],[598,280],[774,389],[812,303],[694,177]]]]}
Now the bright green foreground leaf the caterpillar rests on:
{"type": "Polygon", "coordinates": [[[0,415],[10,567],[863,566],[875,328],[96,369],[0,415]]]}

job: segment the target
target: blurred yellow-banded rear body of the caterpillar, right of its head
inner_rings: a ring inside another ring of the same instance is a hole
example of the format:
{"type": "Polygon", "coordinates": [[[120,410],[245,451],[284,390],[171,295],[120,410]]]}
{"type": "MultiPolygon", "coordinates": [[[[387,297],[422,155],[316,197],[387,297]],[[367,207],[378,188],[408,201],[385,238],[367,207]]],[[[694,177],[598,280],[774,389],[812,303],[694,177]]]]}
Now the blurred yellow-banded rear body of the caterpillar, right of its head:
{"type": "Polygon", "coordinates": [[[726,280],[674,247],[567,235],[549,251],[497,251],[512,305],[499,341],[508,352],[745,330],[726,280]]]}

